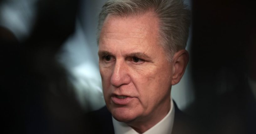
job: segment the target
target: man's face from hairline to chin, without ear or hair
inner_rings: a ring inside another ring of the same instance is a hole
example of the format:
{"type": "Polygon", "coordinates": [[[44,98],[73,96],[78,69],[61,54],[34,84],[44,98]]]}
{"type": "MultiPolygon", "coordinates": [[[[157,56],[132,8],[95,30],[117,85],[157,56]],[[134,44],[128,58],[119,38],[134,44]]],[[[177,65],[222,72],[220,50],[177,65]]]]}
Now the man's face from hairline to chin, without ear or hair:
{"type": "MultiPolygon", "coordinates": [[[[120,122],[146,121],[170,109],[172,65],[159,46],[158,19],[108,15],[99,40],[105,102],[120,122]]],[[[164,116],[165,116],[164,115],[164,116]]]]}

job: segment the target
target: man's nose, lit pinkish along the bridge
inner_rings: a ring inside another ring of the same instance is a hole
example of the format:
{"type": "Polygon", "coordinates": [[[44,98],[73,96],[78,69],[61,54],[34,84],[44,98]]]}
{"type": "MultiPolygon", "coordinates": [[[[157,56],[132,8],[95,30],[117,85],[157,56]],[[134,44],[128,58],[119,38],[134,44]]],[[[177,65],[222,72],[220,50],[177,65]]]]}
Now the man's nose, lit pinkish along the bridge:
{"type": "Polygon", "coordinates": [[[111,84],[114,87],[120,87],[130,83],[130,76],[128,75],[128,67],[123,61],[116,61],[111,75],[111,84]]]}

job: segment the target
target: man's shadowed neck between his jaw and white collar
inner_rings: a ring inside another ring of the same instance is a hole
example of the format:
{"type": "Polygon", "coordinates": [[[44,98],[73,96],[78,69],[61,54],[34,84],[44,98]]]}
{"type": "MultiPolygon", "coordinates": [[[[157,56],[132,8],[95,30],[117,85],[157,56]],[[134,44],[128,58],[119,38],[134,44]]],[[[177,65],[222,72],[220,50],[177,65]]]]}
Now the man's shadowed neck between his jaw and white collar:
{"type": "Polygon", "coordinates": [[[154,111],[143,119],[135,119],[131,122],[126,122],[126,124],[132,127],[138,133],[144,133],[151,127],[154,127],[158,122],[160,122],[170,111],[170,99],[161,102],[161,106],[154,109],[154,111]]]}

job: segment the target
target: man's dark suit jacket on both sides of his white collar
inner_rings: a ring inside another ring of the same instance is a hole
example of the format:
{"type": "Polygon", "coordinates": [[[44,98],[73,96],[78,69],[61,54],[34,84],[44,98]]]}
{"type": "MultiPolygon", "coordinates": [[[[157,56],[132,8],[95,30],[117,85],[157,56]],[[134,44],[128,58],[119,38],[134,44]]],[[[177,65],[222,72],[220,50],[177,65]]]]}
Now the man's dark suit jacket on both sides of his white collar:
{"type": "MultiPolygon", "coordinates": [[[[195,122],[179,110],[175,104],[175,118],[172,134],[198,134],[195,122]]],[[[87,115],[87,132],[91,134],[114,134],[112,115],[107,107],[91,112],[87,115]]]]}

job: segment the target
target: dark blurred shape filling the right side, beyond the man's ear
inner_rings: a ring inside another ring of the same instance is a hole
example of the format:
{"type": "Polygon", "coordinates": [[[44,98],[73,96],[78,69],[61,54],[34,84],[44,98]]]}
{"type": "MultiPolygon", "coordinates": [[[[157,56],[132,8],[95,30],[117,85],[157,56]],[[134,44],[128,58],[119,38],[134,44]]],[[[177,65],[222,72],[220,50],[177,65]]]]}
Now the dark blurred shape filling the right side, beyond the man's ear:
{"type": "Polygon", "coordinates": [[[256,82],[255,5],[242,0],[193,1],[192,111],[204,124],[204,133],[256,133],[255,85],[250,84],[256,82]]]}

